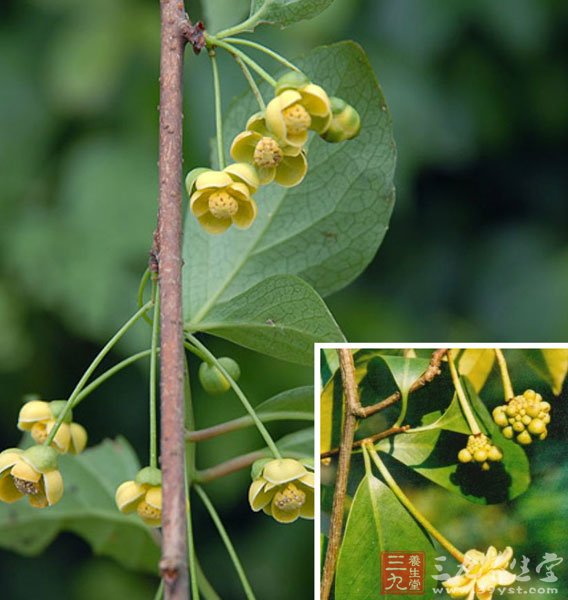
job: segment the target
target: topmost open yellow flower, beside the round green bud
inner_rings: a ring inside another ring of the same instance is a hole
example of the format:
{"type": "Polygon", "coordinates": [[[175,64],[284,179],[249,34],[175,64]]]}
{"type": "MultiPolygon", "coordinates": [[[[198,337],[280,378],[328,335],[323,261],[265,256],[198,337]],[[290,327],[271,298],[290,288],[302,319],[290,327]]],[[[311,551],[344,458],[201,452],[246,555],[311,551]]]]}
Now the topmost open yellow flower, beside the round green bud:
{"type": "Polygon", "coordinates": [[[325,90],[307,83],[298,89],[283,89],[266,107],[266,126],[284,144],[301,148],[308,129],[323,133],[331,122],[331,105],[325,90]]]}

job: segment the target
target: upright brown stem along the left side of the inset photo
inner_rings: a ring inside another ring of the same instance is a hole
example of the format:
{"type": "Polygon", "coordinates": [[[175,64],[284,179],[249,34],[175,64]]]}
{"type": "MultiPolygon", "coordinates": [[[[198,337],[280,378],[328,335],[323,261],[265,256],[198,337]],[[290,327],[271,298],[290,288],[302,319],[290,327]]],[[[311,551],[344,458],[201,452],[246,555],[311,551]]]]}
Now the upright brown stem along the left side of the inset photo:
{"type": "Polygon", "coordinates": [[[355,437],[355,426],[357,424],[356,413],[361,405],[355,380],[355,365],[353,355],[348,348],[340,348],[339,366],[341,368],[341,380],[343,382],[343,393],[345,395],[345,420],[341,444],[339,446],[339,464],[337,467],[337,479],[333,494],[333,505],[331,507],[331,521],[329,526],[329,538],[325,563],[321,580],[321,600],[328,600],[335,575],[337,555],[341,542],[341,531],[343,529],[343,505],[347,493],[347,479],[349,477],[349,466],[351,464],[351,447],[355,437]]]}

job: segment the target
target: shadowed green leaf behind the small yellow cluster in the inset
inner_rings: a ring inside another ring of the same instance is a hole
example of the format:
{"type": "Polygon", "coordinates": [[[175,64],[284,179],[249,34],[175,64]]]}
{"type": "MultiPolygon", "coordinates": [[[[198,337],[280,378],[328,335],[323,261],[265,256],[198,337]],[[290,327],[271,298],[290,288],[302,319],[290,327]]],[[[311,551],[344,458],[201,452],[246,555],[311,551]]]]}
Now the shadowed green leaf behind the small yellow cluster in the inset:
{"type": "Polygon", "coordinates": [[[458,463],[457,454],[465,447],[466,437],[444,431],[423,463],[413,465],[406,461],[404,456],[401,462],[412,466],[420,475],[470,502],[496,504],[512,500],[525,492],[530,485],[526,453],[517,443],[501,434],[473,385],[467,379],[463,381],[478,422],[492,442],[503,451],[503,460],[493,463],[489,471],[483,471],[477,464],[458,463]]]}

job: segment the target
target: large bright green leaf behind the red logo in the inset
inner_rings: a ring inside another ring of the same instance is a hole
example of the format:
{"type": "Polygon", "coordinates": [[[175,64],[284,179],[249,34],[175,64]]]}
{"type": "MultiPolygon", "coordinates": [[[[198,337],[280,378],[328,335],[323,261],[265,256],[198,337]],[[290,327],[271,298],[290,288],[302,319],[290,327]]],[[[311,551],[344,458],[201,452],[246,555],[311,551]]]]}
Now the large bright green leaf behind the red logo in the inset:
{"type": "MultiPolygon", "coordinates": [[[[381,591],[381,552],[387,551],[424,552],[425,582],[431,581],[436,552],[430,538],[384,483],[365,476],[353,498],[339,553],[336,600],[376,600],[381,591]]],[[[410,594],[380,597],[416,598],[410,594]]]]}

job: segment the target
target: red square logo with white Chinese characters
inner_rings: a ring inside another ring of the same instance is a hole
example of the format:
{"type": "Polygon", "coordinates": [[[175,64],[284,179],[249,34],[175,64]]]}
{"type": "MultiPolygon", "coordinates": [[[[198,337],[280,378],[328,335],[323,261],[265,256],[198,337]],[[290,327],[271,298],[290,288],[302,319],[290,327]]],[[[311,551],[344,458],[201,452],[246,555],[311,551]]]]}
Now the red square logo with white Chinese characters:
{"type": "Polygon", "coordinates": [[[381,552],[381,594],[423,594],[424,552],[381,552]]]}

